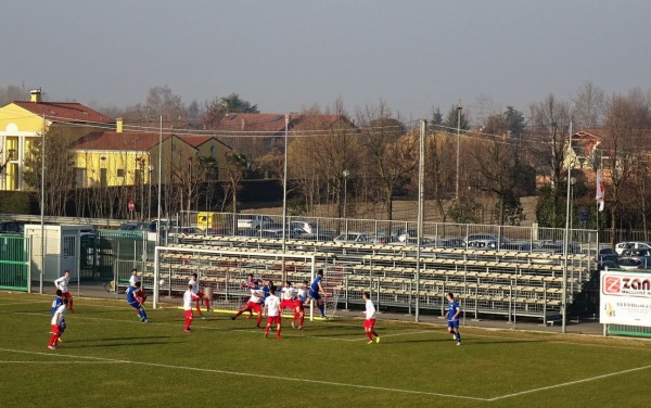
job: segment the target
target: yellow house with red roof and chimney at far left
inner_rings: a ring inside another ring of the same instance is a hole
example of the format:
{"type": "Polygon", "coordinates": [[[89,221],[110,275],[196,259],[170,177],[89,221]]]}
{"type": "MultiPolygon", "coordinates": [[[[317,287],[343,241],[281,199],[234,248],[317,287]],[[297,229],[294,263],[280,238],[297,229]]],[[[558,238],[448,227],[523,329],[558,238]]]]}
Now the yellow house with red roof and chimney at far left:
{"type": "Polygon", "coordinates": [[[113,126],[114,119],[79,103],[43,102],[41,91],[31,91],[30,101],[0,107],[0,190],[26,190],[25,158],[31,144],[52,128],[78,139],[98,127],[113,126]]]}

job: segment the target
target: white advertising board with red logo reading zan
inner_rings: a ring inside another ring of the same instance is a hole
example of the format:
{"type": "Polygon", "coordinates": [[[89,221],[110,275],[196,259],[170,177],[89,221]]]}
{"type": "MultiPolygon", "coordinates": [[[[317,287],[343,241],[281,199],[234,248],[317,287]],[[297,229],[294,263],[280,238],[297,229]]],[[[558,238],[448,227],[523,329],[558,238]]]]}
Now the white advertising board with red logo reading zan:
{"type": "Polygon", "coordinates": [[[651,273],[601,272],[599,322],[651,327],[651,273]]]}

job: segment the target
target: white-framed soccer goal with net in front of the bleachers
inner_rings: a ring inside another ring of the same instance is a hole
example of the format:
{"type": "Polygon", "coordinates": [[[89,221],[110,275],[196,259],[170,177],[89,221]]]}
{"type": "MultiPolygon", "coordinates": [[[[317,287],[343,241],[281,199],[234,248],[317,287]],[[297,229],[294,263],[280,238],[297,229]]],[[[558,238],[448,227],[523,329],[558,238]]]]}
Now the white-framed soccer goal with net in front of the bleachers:
{"type": "MultiPolygon", "coordinates": [[[[156,246],[154,271],[153,276],[150,275],[154,289],[153,307],[157,307],[159,295],[181,296],[192,273],[197,275],[200,289],[210,297],[215,309],[238,310],[251,296],[251,291],[244,285],[250,273],[257,279],[271,280],[280,289],[285,280],[294,286],[304,280],[311,283],[318,271],[323,271],[326,315],[332,317],[336,313],[343,270],[317,262],[312,254],[283,254],[281,251],[245,247],[156,246]]],[[[148,278],[143,277],[143,280],[148,278]]],[[[310,320],[314,319],[314,309],[310,302],[310,320]]]]}

